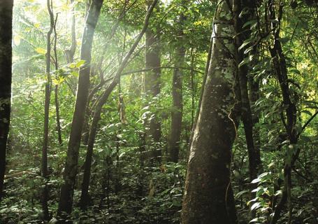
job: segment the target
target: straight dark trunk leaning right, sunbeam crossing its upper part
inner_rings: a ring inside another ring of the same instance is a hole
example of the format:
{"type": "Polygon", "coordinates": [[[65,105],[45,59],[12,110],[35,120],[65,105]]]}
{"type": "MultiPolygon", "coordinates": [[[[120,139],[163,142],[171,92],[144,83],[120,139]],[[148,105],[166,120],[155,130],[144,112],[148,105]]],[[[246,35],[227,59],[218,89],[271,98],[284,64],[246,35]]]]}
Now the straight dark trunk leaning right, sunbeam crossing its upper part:
{"type": "Polygon", "coordinates": [[[80,148],[82,125],[85,118],[85,109],[89,90],[92,43],[102,4],[103,0],[92,1],[87,14],[85,29],[82,36],[80,59],[85,60],[85,65],[80,68],[78,78],[78,91],[76,93],[75,111],[73,113],[71,134],[68,141],[68,151],[64,169],[64,183],[61,188],[59,208],[57,210],[57,215],[62,218],[65,218],[63,213],[70,214],[72,211],[75,177],[78,173],[78,151],[80,148]]]}

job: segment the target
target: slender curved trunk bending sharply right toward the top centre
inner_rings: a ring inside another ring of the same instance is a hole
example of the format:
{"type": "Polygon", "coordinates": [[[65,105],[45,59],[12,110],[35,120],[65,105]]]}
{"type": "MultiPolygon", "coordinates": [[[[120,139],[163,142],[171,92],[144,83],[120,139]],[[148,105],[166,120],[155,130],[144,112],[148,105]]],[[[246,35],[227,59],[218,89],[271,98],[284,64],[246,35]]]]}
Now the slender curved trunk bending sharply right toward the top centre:
{"type": "Polygon", "coordinates": [[[96,104],[96,107],[94,109],[94,116],[92,120],[91,130],[89,132],[89,139],[87,144],[87,153],[85,158],[85,170],[84,170],[84,177],[82,181],[82,194],[80,195],[80,207],[82,209],[86,209],[87,204],[89,202],[89,179],[91,175],[91,167],[92,167],[92,155],[93,155],[93,149],[94,149],[94,142],[96,137],[96,132],[98,130],[99,120],[101,119],[101,109],[103,105],[106,103],[109,95],[111,92],[113,92],[113,89],[116,87],[117,83],[120,80],[120,75],[122,74],[122,71],[127,66],[127,63],[129,59],[131,58],[131,55],[133,54],[133,51],[136,49],[138,43],[140,42],[140,39],[143,37],[143,34],[145,34],[145,31],[148,27],[150,15],[152,13],[152,10],[154,6],[156,5],[158,0],[154,0],[152,2],[152,5],[147,11],[147,15],[145,16],[145,23],[143,25],[143,29],[140,31],[138,37],[136,38],[136,41],[133,43],[131,48],[129,49],[129,52],[127,52],[127,55],[122,60],[122,63],[117,69],[117,72],[115,74],[114,79],[111,81],[111,83],[106,87],[106,90],[103,92],[101,97],[99,98],[99,101],[96,104]]]}

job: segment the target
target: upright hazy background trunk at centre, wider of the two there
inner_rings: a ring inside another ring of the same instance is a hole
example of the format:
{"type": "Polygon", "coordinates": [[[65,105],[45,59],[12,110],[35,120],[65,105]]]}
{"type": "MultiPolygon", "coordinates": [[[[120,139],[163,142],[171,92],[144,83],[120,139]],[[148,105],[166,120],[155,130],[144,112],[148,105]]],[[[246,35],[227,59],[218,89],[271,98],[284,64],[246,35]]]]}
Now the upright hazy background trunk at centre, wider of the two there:
{"type": "MultiPolygon", "coordinates": [[[[148,5],[148,8],[150,5],[148,5]]],[[[160,46],[159,34],[154,33],[152,29],[147,29],[145,34],[145,94],[147,100],[152,101],[160,93],[160,46]]],[[[146,142],[150,146],[151,159],[157,162],[161,161],[161,123],[156,114],[148,115],[146,123],[146,142]],[[153,117],[152,117],[153,116],[153,117]]]]}

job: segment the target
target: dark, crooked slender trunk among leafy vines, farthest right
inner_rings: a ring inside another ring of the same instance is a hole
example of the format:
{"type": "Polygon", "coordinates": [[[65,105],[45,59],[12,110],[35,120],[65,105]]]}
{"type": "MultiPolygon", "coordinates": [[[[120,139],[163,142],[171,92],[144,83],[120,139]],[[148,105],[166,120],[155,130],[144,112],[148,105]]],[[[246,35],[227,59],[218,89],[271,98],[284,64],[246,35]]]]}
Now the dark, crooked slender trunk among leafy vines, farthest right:
{"type": "MultiPolygon", "coordinates": [[[[276,22],[272,22],[273,27],[273,36],[274,43],[273,46],[270,47],[270,56],[273,60],[273,69],[277,76],[278,83],[280,83],[280,90],[282,92],[282,104],[286,107],[286,120],[282,120],[285,126],[285,130],[287,132],[287,136],[289,139],[289,147],[295,149],[295,153],[291,155],[291,159],[288,162],[285,160],[284,165],[284,188],[282,190],[282,197],[280,202],[277,204],[274,210],[274,216],[270,221],[271,224],[277,223],[280,218],[280,214],[282,209],[284,208],[284,204],[288,203],[289,209],[289,221],[291,223],[292,218],[292,207],[291,207],[291,167],[294,166],[296,159],[298,158],[299,153],[301,152],[301,148],[296,147],[298,141],[298,134],[296,132],[296,121],[297,121],[297,108],[294,101],[291,99],[291,90],[289,89],[288,83],[288,72],[287,72],[287,63],[286,57],[282,50],[282,43],[280,43],[280,22],[282,19],[282,11],[283,5],[280,4],[278,8],[278,13],[275,13],[274,1],[269,2],[269,13],[270,19],[272,21],[277,20],[276,22]]],[[[284,116],[282,116],[284,119],[284,116]]],[[[291,152],[289,152],[291,153],[291,152]]]]}

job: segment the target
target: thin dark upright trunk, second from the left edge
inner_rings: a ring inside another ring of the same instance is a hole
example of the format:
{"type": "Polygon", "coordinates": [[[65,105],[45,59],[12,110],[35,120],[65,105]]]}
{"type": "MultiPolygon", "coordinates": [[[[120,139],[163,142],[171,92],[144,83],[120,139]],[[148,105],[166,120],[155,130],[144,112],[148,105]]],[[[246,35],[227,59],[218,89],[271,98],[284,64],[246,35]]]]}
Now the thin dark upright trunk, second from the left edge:
{"type": "Polygon", "coordinates": [[[47,0],[48,12],[50,14],[50,30],[48,31],[48,39],[47,39],[47,52],[46,52],[46,75],[47,80],[45,84],[45,104],[44,104],[44,129],[43,129],[43,148],[42,148],[42,176],[45,179],[45,184],[43,188],[42,194],[42,210],[44,219],[48,221],[49,211],[48,211],[48,132],[49,132],[49,111],[50,111],[50,97],[51,97],[51,35],[54,27],[54,15],[53,15],[53,6],[51,5],[51,1],[47,0]]]}

